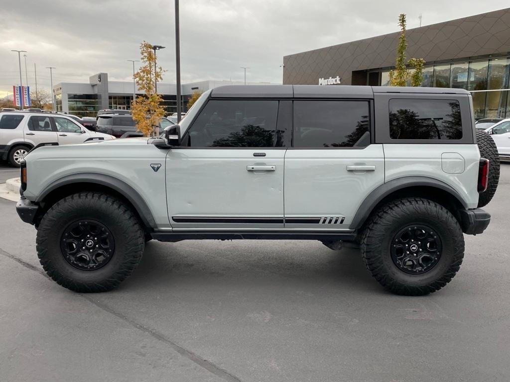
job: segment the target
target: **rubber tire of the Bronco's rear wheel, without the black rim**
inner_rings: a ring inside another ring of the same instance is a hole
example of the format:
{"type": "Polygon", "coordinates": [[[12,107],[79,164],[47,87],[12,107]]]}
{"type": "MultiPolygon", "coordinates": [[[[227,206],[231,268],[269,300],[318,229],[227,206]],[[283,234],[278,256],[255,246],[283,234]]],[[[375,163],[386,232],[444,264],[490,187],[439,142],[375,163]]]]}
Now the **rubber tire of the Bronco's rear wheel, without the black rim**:
{"type": "Polygon", "coordinates": [[[464,258],[464,236],[455,217],[440,204],[421,198],[397,199],[369,217],[361,251],[367,269],[379,284],[396,294],[424,295],[441,289],[455,276],[464,258]],[[419,275],[402,271],[391,256],[395,235],[409,225],[430,227],[442,242],[439,261],[419,275]]]}

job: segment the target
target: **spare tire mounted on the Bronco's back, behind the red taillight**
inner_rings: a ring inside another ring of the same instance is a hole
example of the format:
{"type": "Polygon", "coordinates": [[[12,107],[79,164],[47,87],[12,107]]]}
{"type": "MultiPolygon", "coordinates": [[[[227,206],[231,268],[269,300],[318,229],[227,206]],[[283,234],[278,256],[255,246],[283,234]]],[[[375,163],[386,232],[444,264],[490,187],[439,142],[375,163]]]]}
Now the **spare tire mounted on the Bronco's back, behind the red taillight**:
{"type": "Polygon", "coordinates": [[[480,150],[480,156],[489,159],[489,182],[487,184],[487,190],[478,197],[478,207],[484,207],[492,200],[492,197],[496,193],[496,188],[498,188],[499,154],[494,140],[488,133],[476,130],[476,141],[478,143],[478,149],[480,150]]]}

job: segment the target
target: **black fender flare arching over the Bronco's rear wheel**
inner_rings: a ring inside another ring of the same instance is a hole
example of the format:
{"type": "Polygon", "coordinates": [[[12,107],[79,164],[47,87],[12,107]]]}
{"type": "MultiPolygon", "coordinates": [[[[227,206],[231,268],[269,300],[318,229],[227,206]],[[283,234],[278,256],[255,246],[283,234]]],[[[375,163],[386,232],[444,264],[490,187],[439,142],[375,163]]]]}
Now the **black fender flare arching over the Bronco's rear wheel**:
{"type": "Polygon", "coordinates": [[[428,178],[426,176],[406,176],[403,178],[397,178],[390,180],[387,183],[383,183],[375,188],[363,201],[362,205],[358,208],[358,211],[354,214],[352,223],[349,229],[359,229],[367,217],[372,213],[375,206],[385,197],[398,191],[399,189],[415,186],[429,186],[446,191],[448,194],[453,196],[465,209],[468,208],[467,203],[461,197],[460,194],[450,185],[437,180],[434,178],[428,178]]]}

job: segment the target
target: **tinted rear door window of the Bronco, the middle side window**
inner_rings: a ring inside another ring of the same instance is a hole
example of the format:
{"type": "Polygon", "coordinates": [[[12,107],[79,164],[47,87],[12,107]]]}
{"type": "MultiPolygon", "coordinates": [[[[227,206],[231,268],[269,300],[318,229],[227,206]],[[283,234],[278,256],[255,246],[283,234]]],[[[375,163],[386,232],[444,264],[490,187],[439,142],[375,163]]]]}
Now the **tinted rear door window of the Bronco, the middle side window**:
{"type": "Polygon", "coordinates": [[[368,101],[294,101],[294,147],[366,147],[368,101]]]}

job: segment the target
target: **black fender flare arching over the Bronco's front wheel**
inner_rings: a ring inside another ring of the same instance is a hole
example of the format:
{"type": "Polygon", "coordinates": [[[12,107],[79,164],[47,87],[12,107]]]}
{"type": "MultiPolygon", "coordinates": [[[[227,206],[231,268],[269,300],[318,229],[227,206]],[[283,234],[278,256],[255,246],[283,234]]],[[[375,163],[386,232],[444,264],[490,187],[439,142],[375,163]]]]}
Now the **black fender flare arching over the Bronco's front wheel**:
{"type": "Polygon", "coordinates": [[[123,195],[133,205],[145,227],[157,227],[154,216],[152,216],[152,212],[150,212],[147,203],[145,203],[145,200],[140,196],[140,194],[129,184],[110,175],[81,173],[64,176],[44,188],[34,202],[43,202],[44,198],[46,198],[49,193],[53,192],[57,188],[73,183],[95,183],[115,190],[119,194],[123,195]]]}

